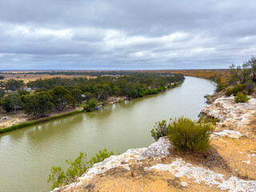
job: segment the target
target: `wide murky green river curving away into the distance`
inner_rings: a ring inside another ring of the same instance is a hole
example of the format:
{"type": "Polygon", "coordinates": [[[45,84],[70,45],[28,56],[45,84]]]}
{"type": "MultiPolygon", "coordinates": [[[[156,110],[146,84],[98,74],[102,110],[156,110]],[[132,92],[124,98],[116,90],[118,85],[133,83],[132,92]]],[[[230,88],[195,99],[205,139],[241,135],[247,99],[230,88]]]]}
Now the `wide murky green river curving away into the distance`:
{"type": "Polygon", "coordinates": [[[49,191],[51,166],[85,152],[90,158],[105,147],[114,154],[149,146],[154,122],[169,118],[198,119],[216,85],[186,77],[182,85],[161,94],[105,106],[102,110],[30,126],[0,135],[0,191],[49,191]]]}

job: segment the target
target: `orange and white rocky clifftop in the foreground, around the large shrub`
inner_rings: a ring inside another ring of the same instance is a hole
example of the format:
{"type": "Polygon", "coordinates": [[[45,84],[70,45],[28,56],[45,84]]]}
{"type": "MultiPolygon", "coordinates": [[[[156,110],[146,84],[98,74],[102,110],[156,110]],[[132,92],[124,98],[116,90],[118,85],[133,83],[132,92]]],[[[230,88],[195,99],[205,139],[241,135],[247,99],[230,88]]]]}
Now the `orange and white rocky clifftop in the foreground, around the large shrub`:
{"type": "Polygon", "coordinates": [[[111,156],[54,191],[256,191],[255,96],[236,103],[218,94],[202,113],[218,120],[207,154],[176,152],[161,138],[111,156]]]}

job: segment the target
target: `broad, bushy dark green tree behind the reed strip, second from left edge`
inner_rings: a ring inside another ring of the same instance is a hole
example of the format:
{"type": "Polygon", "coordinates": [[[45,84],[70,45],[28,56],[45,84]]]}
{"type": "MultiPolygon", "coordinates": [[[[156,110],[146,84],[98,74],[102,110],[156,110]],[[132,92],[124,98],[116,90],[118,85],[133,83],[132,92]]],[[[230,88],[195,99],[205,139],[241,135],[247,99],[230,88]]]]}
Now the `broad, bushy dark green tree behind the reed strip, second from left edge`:
{"type": "Polygon", "coordinates": [[[36,118],[42,117],[54,109],[52,100],[52,96],[47,92],[27,94],[22,98],[24,102],[23,112],[24,114],[33,114],[36,118]]]}

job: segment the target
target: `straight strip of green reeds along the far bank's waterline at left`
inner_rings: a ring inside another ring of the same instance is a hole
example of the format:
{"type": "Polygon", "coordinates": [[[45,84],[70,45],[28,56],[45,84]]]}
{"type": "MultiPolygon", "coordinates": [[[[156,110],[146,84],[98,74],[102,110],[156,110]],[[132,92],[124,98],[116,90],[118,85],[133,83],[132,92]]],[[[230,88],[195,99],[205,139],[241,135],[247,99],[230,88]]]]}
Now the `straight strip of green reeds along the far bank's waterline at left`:
{"type": "Polygon", "coordinates": [[[5,133],[8,133],[12,130],[19,130],[19,129],[22,129],[22,128],[25,128],[25,127],[28,127],[28,126],[38,125],[38,124],[43,123],[43,122],[50,122],[50,121],[56,120],[58,118],[65,118],[65,117],[68,117],[68,116],[74,115],[74,114],[81,114],[82,112],[83,112],[82,110],[74,110],[70,113],[60,114],[60,115],[56,115],[54,117],[49,117],[49,118],[42,118],[42,119],[39,119],[39,120],[33,121],[33,122],[23,122],[23,123],[18,124],[18,125],[9,126],[7,128],[0,129],[0,134],[5,134],[5,133]]]}

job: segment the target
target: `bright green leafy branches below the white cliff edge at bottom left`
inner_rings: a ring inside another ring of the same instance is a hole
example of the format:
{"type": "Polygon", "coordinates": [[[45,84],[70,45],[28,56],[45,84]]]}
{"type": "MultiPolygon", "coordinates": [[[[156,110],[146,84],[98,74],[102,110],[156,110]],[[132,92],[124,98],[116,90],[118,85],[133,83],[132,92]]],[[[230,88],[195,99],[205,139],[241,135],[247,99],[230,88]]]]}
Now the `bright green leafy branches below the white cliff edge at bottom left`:
{"type": "Polygon", "coordinates": [[[108,152],[106,148],[100,150],[98,154],[90,158],[90,161],[86,161],[86,154],[80,153],[78,158],[72,161],[66,160],[66,164],[69,166],[66,172],[62,170],[60,166],[53,166],[47,182],[53,183],[52,190],[56,187],[65,186],[71,182],[75,182],[78,177],[86,172],[94,163],[102,162],[105,158],[109,158],[113,155],[113,151],[108,152]]]}

